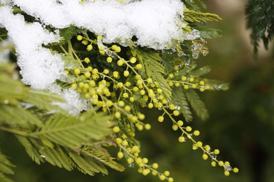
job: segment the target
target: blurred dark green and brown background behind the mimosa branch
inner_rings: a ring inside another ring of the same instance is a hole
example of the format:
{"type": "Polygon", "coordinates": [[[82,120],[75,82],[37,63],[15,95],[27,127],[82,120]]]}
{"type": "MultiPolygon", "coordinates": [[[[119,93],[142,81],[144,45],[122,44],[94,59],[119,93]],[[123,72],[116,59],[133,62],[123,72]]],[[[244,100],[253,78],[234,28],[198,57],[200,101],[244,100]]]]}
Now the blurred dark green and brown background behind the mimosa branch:
{"type": "MultiPolygon", "coordinates": [[[[208,42],[210,54],[201,57],[199,65],[210,65],[212,72],[208,77],[229,82],[230,89],[203,93],[210,119],[199,121],[196,118],[190,125],[201,131],[198,140],[220,149],[218,157],[229,160],[240,172],[224,177],[223,169],[212,168],[210,161],[203,161],[201,151],[192,151],[190,142],[177,142],[179,133],[171,130],[170,122],[156,122],[159,110],[147,112],[152,130],[138,132],[141,155],[148,157],[151,163],[158,162],[161,171],[170,170],[175,181],[274,181],[273,45],[267,51],[260,50],[259,59],[254,60],[249,31],[245,29],[245,1],[208,0],[207,4],[209,12],[223,18],[221,22],[210,24],[223,30],[223,37],[208,42]]],[[[12,135],[1,132],[0,143],[17,166],[12,178],[18,182],[159,181],[151,175],[140,175],[137,168],[127,168],[123,173],[110,169],[108,176],[89,177],[49,164],[38,166],[12,135]]],[[[115,149],[112,150],[115,155],[115,149]]],[[[123,160],[121,163],[127,165],[123,160]]]]}

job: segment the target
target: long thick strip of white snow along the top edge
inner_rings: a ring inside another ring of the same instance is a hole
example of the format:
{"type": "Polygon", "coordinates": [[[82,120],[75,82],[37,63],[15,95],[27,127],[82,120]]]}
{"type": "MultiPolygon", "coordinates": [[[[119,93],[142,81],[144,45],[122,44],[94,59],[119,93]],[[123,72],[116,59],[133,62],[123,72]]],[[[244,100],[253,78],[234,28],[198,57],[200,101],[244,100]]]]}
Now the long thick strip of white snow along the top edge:
{"type": "Polygon", "coordinates": [[[79,0],[13,0],[27,14],[58,29],[75,25],[103,35],[105,43],[126,45],[134,35],[136,44],[149,48],[169,48],[173,40],[189,39],[182,32],[184,3],[180,0],[142,0],[119,3],[79,0]]]}

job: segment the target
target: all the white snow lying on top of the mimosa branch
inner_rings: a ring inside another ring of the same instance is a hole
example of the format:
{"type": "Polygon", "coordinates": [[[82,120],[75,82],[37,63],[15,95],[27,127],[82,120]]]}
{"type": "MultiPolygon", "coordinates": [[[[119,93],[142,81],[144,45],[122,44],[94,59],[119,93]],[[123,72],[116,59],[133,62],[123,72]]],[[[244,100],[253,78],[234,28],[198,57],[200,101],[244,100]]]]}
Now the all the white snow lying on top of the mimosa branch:
{"type": "MultiPolygon", "coordinates": [[[[16,48],[18,66],[26,85],[59,93],[66,103],[55,103],[77,115],[87,109],[87,102],[73,89],[61,89],[55,80],[64,80],[64,61],[61,55],[42,45],[58,42],[57,29],[75,25],[103,35],[103,43],[127,42],[136,37],[135,44],[156,50],[171,48],[175,40],[194,40],[199,31],[183,33],[185,5],[180,0],[0,0],[0,27],[16,48]],[[17,5],[40,22],[25,22],[21,14],[12,14],[10,5],[17,5]]],[[[5,52],[6,53],[6,52],[5,52]]],[[[0,54],[5,56],[4,53],[0,54]]],[[[1,57],[1,55],[0,55],[1,57]]]]}

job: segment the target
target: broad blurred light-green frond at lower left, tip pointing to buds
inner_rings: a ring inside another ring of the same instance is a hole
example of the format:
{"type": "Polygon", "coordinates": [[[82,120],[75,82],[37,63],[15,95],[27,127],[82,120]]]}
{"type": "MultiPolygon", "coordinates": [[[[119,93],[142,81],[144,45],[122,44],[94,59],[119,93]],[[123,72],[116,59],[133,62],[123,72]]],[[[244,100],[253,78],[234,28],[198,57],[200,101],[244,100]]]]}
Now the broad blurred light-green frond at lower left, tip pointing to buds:
{"type": "Polygon", "coordinates": [[[80,119],[53,115],[40,131],[29,135],[47,138],[65,147],[79,147],[84,142],[90,142],[90,139],[100,140],[110,134],[109,117],[101,112],[95,115],[94,112],[95,110],[86,112],[80,119]]]}

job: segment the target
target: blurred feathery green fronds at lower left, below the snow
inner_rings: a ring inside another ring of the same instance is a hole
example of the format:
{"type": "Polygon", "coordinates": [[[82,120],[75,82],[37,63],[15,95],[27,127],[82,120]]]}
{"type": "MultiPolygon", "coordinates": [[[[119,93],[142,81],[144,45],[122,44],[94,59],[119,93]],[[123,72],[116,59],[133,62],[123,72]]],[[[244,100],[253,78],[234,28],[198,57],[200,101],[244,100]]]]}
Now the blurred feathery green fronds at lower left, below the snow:
{"type": "MultiPolygon", "coordinates": [[[[94,175],[95,172],[108,174],[103,165],[124,170],[108,153],[90,147],[84,147],[82,151],[83,145],[91,146],[93,142],[103,140],[111,134],[112,123],[109,116],[97,110],[84,112],[79,117],[70,116],[51,104],[64,102],[62,98],[25,87],[21,81],[11,77],[14,74],[13,68],[8,63],[0,63],[0,85],[8,86],[0,89],[0,130],[16,134],[34,162],[41,164],[47,161],[66,170],[77,168],[89,175],[94,175]],[[26,107],[25,103],[29,106],[26,107]],[[54,112],[39,115],[34,108],[54,112]]],[[[14,166],[2,153],[0,162],[0,179],[9,181],[3,173],[13,174],[10,167],[14,166]]]]}

